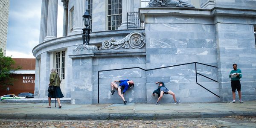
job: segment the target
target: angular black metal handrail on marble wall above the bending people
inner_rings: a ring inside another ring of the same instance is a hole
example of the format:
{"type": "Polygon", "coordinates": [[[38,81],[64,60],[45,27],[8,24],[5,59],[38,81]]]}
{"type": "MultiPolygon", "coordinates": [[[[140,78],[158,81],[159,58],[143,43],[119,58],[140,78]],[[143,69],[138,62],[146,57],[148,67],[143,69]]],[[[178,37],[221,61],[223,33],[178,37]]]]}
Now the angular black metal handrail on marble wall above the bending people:
{"type": "MultiPolygon", "coordinates": [[[[201,76],[204,76],[200,73],[197,73],[197,65],[196,64],[202,64],[202,65],[206,65],[206,66],[209,66],[209,67],[215,67],[217,68],[216,66],[212,66],[212,65],[209,65],[209,64],[203,64],[203,63],[198,63],[198,62],[191,62],[191,63],[185,63],[185,64],[177,64],[177,65],[171,65],[171,66],[166,66],[166,67],[158,67],[158,68],[153,68],[153,69],[148,69],[148,70],[145,70],[141,67],[128,67],[128,68],[119,68],[119,69],[112,69],[112,70],[99,70],[98,71],[98,104],[99,104],[99,72],[105,72],[105,71],[114,71],[114,70],[127,70],[127,69],[134,69],[134,68],[139,68],[141,70],[144,70],[144,71],[150,71],[150,70],[157,70],[157,69],[162,69],[162,68],[167,68],[167,67],[176,67],[176,66],[181,66],[181,65],[187,65],[187,64],[195,64],[195,79],[196,79],[196,84],[198,84],[199,86],[203,87],[205,90],[209,91],[210,93],[214,94],[215,96],[218,96],[217,94],[213,93],[212,91],[208,90],[206,87],[202,86],[201,84],[198,83],[198,80],[197,80],[197,74],[198,75],[201,75],[201,76]]],[[[204,76],[205,78],[207,79],[210,79],[212,81],[215,81],[215,82],[218,82],[214,79],[211,79],[207,76],[204,76]]],[[[218,96],[220,97],[220,96],[218,96]]]]}

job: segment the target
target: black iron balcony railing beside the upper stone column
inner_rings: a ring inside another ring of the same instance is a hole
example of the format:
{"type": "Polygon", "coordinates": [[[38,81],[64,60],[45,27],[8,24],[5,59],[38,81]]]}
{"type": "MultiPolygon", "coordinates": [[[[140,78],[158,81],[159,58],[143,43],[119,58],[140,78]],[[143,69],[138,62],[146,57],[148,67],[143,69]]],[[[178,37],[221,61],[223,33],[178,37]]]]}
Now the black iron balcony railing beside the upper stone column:
{"type": "Polygon", "coordinates": [[[129,28],[137,28],[144,29],[144,23],[140,22],[139,12],[127,12],[127,29],[129,28]]]}

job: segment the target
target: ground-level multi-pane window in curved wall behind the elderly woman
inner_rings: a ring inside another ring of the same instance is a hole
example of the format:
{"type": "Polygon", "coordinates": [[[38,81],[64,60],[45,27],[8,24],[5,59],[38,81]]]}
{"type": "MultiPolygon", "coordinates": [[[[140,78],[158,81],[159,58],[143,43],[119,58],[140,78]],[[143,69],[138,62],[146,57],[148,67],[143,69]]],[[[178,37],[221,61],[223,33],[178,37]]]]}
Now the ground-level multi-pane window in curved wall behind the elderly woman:
{"type": "Polygon", "coordinates": [[[55,68],[60,79],[65,79],[65,51],[55,53],[55,68]]]}

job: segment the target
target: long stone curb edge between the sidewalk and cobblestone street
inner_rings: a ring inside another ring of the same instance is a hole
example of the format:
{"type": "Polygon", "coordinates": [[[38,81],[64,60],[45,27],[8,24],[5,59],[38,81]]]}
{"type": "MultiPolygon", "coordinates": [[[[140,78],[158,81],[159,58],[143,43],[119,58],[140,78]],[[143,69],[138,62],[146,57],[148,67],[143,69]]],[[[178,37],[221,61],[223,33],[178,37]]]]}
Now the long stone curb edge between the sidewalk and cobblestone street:
{"type": "Polygon", "coordinates": [[[218,118],[225,116],[256,116],[255,111],[195,112],[195,113],[88,113],[88,114],[25,114],[0,113],[1,119],[50,119],[50,120],[154,120],[179,118],[218,118]]]}

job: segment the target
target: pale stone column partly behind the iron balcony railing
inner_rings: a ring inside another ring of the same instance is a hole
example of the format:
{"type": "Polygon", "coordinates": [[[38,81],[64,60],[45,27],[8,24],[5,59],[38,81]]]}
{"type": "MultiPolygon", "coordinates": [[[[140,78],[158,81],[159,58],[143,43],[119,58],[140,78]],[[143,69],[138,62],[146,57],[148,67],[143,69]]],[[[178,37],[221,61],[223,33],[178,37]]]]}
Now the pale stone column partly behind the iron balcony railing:
{"type": "Polygon", "coordinates": [[[122,0],[122,23],[118,29],[127,29],[127,23],[135,26],[133,21],[127,21],[127,12],[134,12],[134,0],[122,0]]]}

